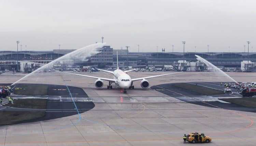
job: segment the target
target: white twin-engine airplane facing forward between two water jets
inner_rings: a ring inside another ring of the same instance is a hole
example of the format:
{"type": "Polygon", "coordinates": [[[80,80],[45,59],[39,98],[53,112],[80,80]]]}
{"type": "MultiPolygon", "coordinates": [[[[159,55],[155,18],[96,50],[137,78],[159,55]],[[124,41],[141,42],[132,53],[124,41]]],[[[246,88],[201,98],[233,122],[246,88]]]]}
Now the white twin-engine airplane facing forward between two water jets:
{"type": "MultiPolygon", "coordinates": [[[[117,56],[117,54],[116,54],[116,56],[117,56]]],[[[68,72],[60,72],[60,73],[67,73],[67,74],[72,74],[72,75],[96,78],[97,80],[95,81],[95,86],[97,88],[102,88],[103,87],[103,80],[106,80],[106,81],[109,81],[108,89],[112,89],[111,84],[115,83],[115,85],[124,89],[124,93],[127,93],[126,89],[134,89],[134,86],[132,85],[133,81],[142,80],[141,83],[140,83],[141,87],[143,89],[147,89],[150,86],[149,82],[146,80],[147,78],[153,78],[153,77],[159,77],[159,76],[181,73],[181,72],[176,72],[176,73],[169,73],[169,74],[154,75],[154,76],[140,77],[140,78],[131,79],[131,77],[127,74],[127,72],[134,71],[136,69],[128,70],[128,71],[120,70],[119,67],[118,67],[118,56],[117,56],[117,69],[115,71],[107,71],[107,70],[102,70],[102,69],[98,69],[98,70],[103,71],[103,72],[111,73],[111,74],[113,74],[114,78],[110,79],[110,78],[95,77],[95,76],[74,74],[74,73],[68,73],[68,72]]]]}

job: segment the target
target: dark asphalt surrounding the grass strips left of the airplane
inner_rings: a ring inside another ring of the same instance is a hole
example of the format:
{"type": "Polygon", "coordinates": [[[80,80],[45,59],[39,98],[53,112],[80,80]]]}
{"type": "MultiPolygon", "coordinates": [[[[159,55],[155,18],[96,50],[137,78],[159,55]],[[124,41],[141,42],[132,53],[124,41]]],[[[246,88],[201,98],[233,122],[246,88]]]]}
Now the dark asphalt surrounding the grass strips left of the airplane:
{"type": "MultiPolygon", "coordinates": [[[[31,84],[31,86],[33,86],[33,84],[31,84]]],[[[21,121],[20,123],[52,120],[55,118],[81,114],[95,107],[94,103],[89,99],[83,89],[73,86],[48,85],[48,96],[13,95],[12,97],[15,99],[47,98],[46,109],[15,108],[1,105],[1,109],[5,111],[45,111],[44,117],[29,121],[21,121]]]]}

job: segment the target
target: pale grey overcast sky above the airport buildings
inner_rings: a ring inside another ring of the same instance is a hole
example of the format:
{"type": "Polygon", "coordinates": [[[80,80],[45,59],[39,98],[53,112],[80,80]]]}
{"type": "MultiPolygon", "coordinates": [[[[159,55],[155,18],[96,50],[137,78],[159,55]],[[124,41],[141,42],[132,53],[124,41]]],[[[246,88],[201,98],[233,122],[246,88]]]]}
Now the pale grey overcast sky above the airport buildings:
{"type": "Polygon", "coordinates": [[[0,16],[0,51],[16,40],[22,50],[79,49],[101,36],[132,52],[181,52],[183,40],[186,52],[241,52],[256,41],[255,0],[0,0],[0,16]]]}

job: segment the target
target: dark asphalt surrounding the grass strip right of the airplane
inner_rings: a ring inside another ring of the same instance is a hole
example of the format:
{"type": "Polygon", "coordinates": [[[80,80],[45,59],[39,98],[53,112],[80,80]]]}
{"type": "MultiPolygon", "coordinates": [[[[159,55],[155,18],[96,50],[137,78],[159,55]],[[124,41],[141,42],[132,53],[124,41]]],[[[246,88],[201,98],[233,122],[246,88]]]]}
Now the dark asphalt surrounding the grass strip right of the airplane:
{"type": "MultiPolygon", "coordinates": [[[[223,94],[223,95],[214,95],[214,96],[204,96],[194,91],[184,90],[178,87],[174,87],[175,83],[171,84],[161,84],[152,86],[151,89],[154,89],[158,92],[166,94],[168,96],[172,96],[181,101],[196,104],[200,106],[206,106],[211,108],[219,108],[219,109],[229,109],[229,110],[238,110],[238,111],[248,111],[248,112],[256,112],[256,108],[248,108],[241,105],[227,103],[221,100],[221,98],[240,98],[242,95],[237,93],[237,89],[231,89],[231,94],[223,94]]],[[[187,83],[187,84],[196,84],[200,86],[205,86],[208,88],[224,90],[224,86],[221,86],[216,82],[195,82],[195,83],[187,83]]]]}

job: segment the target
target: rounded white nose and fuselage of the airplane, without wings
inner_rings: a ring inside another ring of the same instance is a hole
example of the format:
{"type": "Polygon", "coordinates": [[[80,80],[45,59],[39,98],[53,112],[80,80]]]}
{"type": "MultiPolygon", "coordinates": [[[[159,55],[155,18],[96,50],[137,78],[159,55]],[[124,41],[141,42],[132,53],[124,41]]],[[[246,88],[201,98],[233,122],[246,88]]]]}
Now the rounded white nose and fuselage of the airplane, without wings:
{"type": "Polygon", "coordinates": [[[120,88],[128,89],[131,86],[131,77],[120,69],[114,71],[114,79],[120,88]]]}

